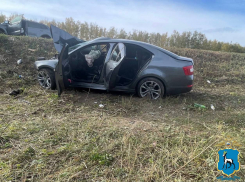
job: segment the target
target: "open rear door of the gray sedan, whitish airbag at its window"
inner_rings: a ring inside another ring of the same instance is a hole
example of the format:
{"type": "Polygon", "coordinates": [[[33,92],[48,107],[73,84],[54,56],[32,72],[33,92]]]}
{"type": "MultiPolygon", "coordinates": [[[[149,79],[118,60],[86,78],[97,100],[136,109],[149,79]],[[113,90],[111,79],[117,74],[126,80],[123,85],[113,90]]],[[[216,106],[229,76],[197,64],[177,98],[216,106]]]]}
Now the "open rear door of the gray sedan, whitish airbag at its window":
{"type": "Polygon", "coordinates": [[[104,83],[107,90],[116,86],[118,81],[118,71],[123,59],[126,56],[126,47],[123,43],[118,43],[111,52],[109,61],[106,63],[104,83]]]}

